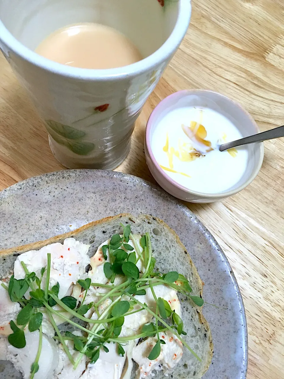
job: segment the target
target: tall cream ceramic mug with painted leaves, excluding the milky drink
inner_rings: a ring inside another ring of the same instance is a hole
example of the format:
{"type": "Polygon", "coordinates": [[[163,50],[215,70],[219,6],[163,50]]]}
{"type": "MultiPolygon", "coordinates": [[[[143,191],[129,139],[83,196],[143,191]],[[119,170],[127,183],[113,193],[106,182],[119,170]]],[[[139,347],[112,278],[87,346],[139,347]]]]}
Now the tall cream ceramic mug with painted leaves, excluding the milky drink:
{"type": "Polygon", "coordinates": [[[190,0],[0,0],[0,49],[28,90],[59,162],[114,169],[125,159],[134,123],[183,40],[190,14],[190,0]],[[34,52],[53,31],[80,22],[119,30],[144,59],[91,70],[34,52]]]}

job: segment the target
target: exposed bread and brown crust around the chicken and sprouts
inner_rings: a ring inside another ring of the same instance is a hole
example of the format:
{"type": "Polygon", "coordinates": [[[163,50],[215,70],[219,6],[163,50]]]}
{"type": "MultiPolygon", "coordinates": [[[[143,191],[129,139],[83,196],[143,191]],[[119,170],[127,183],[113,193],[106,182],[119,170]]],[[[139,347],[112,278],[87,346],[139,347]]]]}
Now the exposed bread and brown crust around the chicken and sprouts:
{"type": "MultiPolygon", "coordinates": [[[[138,218],[130,214],[112,216],[91,222],[73,232],[55,236],[45,241],[0,251],[0,277],[5,278],[11,275],[18,255],[30,250],[41,249],[41,247],[51,243],[63,243],[65,238],[68,237],[74,237],[80,242],[90,244],[89,255],[92,257],[102,242],[115,233],[123,233],[120,222],[123,225],[130,224],[133,234],[143,235],[149,232],[153,256],[157,261],[155,267],[161,273],[178,271],[178,273],[183,274],[189,280],[192,295],[202,296],[202,281],[179,237],[163,221],[147,215],[141,215],[138,218]]],[[[176,366],[171,377],[176,379],[197,379],[208,370],[211,363],[213,352],[212,335],[209,325],[202,315],[202,309],[195,305],[190,298],[186,298],[181,294],[178,297],[181,301],[184,330],[187,332],[187,335],[183,336],[183,338],[201,358],[202,362],[199,362],[184,348],[183,358],[176,366]]],[[[155,377],[160,379],[164,377],[164,374],[160,371],[155,377]]]]}

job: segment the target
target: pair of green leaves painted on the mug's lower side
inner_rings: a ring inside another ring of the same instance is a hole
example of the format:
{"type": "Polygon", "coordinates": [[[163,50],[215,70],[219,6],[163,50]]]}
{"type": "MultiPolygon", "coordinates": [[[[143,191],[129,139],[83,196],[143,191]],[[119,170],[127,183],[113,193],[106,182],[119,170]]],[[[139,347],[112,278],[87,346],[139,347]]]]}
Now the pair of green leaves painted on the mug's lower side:
{"type": "Polygon", "coordinates": [[[59,145],[66,146],[73,153],[88,155],[94,150],[95,145],[93,143],[81,141],[86,136],[85,132],[52,120],[45,120],[45,124],[50,136],[59,145]]]}

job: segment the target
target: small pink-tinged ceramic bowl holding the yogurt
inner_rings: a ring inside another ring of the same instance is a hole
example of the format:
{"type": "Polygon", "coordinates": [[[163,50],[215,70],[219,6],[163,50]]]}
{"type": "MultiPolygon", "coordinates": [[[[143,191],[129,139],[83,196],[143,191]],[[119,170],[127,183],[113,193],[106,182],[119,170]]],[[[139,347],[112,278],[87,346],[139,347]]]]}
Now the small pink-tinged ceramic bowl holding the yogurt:
{"type": "Polygon", "coordinates": [[[190,103],[190,106],[211,108],[227,117],[239,129],[243,137],[259,133],[259,128],[250,114],[242,106],[226,96],[206,90],[175,92],[156,106],[148,120],[145,136],[145,155],[148,167],[159,185],[178,199],[194,203],[210,203],[223,200],[247,187],[257,176],[264,158],[264,145],[263,143],[254,143],[243,147],[248,152],[247,168],[239,182],[226,191],[220,193],[201,193],[180,185],[171,179],[159,166],[151,145],[153,142],[153,132],[159,121],[170,111],[187,106],[187,103],[190,103]]]}

